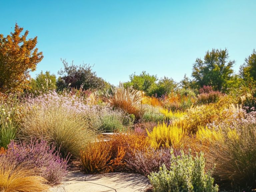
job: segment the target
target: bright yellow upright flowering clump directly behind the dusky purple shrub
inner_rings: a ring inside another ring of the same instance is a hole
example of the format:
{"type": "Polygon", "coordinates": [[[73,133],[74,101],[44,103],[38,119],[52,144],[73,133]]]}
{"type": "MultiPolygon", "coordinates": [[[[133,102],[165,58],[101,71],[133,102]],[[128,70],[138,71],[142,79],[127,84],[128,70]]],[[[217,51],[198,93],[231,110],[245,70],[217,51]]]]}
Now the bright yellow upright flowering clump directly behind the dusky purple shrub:
{"type": "Polygon", "coordinates": [[[181,147],[182,139],[187,136],[186,130],[177,125],[158,124],[152,132],[147,131],[152,147],[181,147]]]}

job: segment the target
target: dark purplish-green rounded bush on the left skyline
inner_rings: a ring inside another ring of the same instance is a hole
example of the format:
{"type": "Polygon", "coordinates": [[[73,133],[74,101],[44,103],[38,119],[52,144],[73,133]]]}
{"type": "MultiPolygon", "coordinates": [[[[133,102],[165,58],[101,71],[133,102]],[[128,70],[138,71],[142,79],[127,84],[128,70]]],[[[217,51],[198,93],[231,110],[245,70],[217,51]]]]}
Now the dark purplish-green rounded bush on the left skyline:
{"type": "Polygon", "coordinates": [[[64,69],[58,71],[60,77],[57,81],[58,89],[77,88],[77,89],[104,89],[108,83],[92,71],[89,64],[71,65],[66,60],[62,60],[64,69]]]}

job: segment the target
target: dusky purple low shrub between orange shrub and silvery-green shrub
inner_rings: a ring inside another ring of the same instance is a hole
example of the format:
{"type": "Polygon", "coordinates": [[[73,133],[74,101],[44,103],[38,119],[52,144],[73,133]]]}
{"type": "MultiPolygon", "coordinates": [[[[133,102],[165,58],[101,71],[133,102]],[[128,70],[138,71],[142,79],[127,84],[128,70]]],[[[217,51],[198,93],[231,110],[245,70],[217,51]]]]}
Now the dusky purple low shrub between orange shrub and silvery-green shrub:
{"type": "MultiPolygon", "coordinates": [[[[137,150],[134,154],[128,153],[127,168],[139,174],[149,175],[153,171],[159,171],[162,164],[170,167],[171,150],[171,148],[154,149],[149,147],[146,150],[137,150]]],[[[178,154],[179,152],[174,150],[174,155],[178,154]]]]}

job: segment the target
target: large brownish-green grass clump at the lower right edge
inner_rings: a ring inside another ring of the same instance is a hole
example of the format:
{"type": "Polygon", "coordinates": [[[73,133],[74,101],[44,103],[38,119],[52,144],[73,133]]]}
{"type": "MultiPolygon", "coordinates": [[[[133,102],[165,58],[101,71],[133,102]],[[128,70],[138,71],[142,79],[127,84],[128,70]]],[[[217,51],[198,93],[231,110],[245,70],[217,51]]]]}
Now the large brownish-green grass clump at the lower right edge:
{"type": "Polygon", "coordinates": [[[215,179],[226,189],[256,189],[256,126],[244,124],[224,135],[224,142],[211,145],[209,164],[216,163],[215,179]]]}

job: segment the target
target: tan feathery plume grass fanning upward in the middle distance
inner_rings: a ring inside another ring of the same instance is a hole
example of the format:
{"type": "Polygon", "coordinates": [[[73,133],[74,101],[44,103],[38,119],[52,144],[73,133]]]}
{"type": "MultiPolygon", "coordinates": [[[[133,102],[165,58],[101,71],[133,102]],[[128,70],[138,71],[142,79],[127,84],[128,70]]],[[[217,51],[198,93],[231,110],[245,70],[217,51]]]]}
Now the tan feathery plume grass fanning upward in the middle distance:
{"type": "Polygon", "coordinates": [[[139,115],[138,104],[141,103],[141,92],[133,89],[132,86],[124,87],[119,83],[119,87],[111,88],[112,94],[106,93],[107,102],[115,108],[120,108],[129,114],[139,115]]]}

